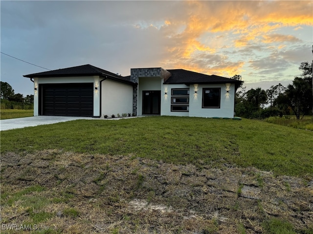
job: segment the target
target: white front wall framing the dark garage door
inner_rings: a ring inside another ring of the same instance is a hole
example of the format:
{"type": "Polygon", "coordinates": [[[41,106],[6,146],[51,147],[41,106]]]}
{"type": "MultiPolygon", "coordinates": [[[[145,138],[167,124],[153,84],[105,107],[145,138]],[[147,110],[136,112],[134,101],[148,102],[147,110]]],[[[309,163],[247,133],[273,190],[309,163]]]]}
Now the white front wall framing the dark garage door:
{"type": "MultiPolygon", "coordinates": [[[[99,86],[98,76],[89,77],[52,77],[52,78],[34,78],[34,116],[38,116],[39,109],[39,84],[61,84],[61,83],[93,83],[94,86],[99,86]]],[[[93,91],[93,116],[100,115],[100,94],[93,91]]]]}

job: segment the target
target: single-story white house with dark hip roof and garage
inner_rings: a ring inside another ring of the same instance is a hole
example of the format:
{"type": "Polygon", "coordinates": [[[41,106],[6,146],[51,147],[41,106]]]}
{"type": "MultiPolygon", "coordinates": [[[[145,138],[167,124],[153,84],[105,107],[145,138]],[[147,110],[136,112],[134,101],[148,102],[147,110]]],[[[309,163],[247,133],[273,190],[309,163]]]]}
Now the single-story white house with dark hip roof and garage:
{"type": "Polygon", "coordinates": [[[134,68],[122,77],[89,64],[24,77],[34,83],[34,116],[234,117],[234,97],[241,84],[161,67],[134,68]]]}

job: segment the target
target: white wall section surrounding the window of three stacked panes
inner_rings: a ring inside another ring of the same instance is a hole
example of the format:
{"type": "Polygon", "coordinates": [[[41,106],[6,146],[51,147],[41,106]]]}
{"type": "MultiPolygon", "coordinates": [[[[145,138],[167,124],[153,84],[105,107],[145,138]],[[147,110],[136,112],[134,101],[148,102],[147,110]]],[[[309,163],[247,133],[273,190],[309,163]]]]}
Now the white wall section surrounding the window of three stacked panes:
{"type": "MultiPolygon", "coordinates": [[[[161,90],[161,116],[189,116],[189,112],[171,111],[171,89],[189,89],[189,86],[184,84],[162,84],[161,90]],[[167,93],[165,95],[165,93],[167,93]]],[[[192,91],[190,91],[191,95],[192,91]]],[[[190,102],[191,97],[189,97],[190,102]]],[[[190,108],[190,106],[189,106],[190,108]]]]}

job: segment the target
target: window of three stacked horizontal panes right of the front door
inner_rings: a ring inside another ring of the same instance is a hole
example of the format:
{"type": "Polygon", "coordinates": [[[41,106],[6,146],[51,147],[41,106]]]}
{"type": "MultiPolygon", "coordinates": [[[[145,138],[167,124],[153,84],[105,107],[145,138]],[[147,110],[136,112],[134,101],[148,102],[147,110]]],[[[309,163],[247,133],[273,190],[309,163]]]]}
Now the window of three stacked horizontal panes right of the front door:
{"type": "Polygon", "coordinates": [[[189,112],[189,89],[171,89],[171,111],[189,112]]]}

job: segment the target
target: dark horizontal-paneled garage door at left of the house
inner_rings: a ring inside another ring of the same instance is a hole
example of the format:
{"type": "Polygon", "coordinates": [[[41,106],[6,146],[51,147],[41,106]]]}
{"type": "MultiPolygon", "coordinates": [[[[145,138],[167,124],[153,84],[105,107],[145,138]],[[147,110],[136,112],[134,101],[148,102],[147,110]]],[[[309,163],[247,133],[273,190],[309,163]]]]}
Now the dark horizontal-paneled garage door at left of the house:
{"type": "Polygon", "coordinates": [[[93,83],[41,84],[40,92],[40,115],[92,117],[93,83]]]}

